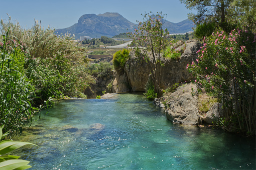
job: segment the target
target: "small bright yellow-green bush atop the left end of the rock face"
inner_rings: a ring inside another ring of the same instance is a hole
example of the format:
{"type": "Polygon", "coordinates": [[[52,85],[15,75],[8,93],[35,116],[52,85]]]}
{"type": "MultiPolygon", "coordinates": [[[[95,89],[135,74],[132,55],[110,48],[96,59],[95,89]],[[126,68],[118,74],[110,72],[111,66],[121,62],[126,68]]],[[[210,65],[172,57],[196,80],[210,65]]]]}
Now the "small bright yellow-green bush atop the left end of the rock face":
{"type": "Polygon", "coordinates": [[[116,51],[113,55],[113,65],[114,68],[117,69],[123,69],[125,66],[125,63],[127,61],[127,59],[129,59],[129,53],[130,50],[129,49],[122,49],[119,51],[116,51]]]}

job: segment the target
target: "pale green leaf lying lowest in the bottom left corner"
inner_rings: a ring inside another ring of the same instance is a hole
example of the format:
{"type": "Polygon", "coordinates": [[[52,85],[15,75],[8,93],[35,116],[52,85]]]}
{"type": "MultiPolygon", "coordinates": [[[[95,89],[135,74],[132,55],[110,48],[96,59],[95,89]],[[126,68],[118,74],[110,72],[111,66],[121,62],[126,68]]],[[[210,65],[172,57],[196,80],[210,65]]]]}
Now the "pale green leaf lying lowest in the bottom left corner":
{"type": "Polygon", "coordinates": [[[30,161],[22,159],[12,159],[0,162],[0,170],[6,169],[27,169],[32,166],[28,165],[30,161]]]}

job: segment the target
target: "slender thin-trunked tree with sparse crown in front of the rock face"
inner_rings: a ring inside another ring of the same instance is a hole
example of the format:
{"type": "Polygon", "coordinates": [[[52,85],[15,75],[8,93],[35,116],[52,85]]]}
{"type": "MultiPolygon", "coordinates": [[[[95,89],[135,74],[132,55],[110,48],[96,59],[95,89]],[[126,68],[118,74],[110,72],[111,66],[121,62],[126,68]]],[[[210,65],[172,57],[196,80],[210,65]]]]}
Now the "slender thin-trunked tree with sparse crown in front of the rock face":
{"type": "MultiPolygon", "coordinates": [[[[143,14],[142,14],[143,15],[143,14]]],[[[133,45],[136,47],[137,56],[149,62],[152,59],[153,64],[148,64],[151,70],[151,77],[154,83],[155,91],[158,96],[162,95],[160,88],[161,82],[161,53],[165,56],[167,47],[167,29],[163,28],[164,16],[162,12],[154,14],[145,13],[142,21],[134,32],[127,32],[133,39],[133,45]],[[141,52],[142,51],[142,52],[141,52]],[[152,57],[150,57],[152,55],[152,57]]]]}

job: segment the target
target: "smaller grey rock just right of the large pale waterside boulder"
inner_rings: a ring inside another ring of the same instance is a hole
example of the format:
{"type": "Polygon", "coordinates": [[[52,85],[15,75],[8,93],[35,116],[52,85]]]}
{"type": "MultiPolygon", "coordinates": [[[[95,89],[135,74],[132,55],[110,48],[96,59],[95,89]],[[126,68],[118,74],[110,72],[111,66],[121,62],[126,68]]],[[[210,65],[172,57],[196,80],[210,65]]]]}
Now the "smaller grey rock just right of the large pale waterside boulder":
{"type": "Polygon", "coordinates": [[[201,119],[206,123],[212,124],[212,122],[218,120],[218,118],[222,117],[223,115],[222,104],[215,102],[206,115],[201,116],[201,119]]]}

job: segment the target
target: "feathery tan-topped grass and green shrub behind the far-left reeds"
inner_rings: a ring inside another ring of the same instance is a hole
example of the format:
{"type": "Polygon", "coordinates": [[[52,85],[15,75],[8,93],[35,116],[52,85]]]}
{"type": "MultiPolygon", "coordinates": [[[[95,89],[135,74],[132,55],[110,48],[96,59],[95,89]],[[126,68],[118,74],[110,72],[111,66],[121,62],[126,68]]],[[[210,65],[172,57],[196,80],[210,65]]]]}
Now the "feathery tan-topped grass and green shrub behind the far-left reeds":
{"type": "Polygon", "coordinates": [[[14,58],[19,70],[26,73],[35,86],[36,103],[49,97],[61,95],[80,96],[88,83],[94,81],[85,71],[88,61],[85,48],[77,45],[69,36],[58,36],[54,30],[43,29],[38,24],[31,29],[22,29],[19,23],[2,24],[2,32],[16,36],[20,40],[23,60],[14,58]]]}

